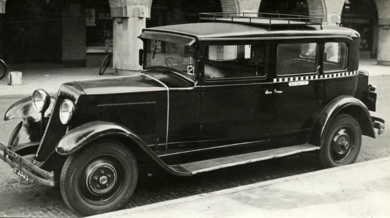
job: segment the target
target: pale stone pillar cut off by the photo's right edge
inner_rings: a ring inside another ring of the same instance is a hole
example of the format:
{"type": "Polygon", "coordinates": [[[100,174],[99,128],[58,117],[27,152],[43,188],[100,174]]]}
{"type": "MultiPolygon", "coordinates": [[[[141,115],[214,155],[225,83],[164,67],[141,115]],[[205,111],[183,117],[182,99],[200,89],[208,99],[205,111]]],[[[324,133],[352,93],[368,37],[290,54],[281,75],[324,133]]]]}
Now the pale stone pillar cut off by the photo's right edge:
{"type": "Polygon", "coordinates": [[[378,26],[378,56],[379,65],[390,66],[390,22],[378,26]]]}

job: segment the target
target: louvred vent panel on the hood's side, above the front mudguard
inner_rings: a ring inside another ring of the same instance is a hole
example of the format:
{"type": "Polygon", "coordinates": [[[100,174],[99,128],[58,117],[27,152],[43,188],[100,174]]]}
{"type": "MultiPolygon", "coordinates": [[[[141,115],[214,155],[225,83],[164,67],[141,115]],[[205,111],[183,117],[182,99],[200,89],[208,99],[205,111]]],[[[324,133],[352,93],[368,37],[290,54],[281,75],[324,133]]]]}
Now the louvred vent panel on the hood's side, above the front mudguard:
{"type": "Polygon", "coordinates": [[[155,134],[156,101],[98,104],[99,119],[129,127],[139,135],[155,134]]]}

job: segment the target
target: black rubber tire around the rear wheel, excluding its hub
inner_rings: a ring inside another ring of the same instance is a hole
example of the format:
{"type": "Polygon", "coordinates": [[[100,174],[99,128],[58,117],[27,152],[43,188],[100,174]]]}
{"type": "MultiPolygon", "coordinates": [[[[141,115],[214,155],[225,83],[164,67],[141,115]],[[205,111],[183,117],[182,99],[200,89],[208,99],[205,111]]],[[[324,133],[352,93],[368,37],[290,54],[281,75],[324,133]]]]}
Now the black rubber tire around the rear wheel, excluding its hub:
{"type": "Polygon", "coordinates": [[[337,115],[325,128],[324,137],[321,139],[321,149],[317,152],[317,156],[324,168],[351,164],[355,162],[357,156],[359,155],[361,143],[362,131],[360,129],[359,122],[348,114],[337,115]],[[337,143],[332,142],[336,141],[338,131],[343,129],[347,130],[346,132],[349,132],[349,134],[346,135],[348,135],[349,139],[351,139],[349,146],[351,150],[345,155],[345,157],[341,158],[344,155],[340,155],[341,159],[337,159],[334,157],[339,155],[335,152],[335,144],[337,143]]]}

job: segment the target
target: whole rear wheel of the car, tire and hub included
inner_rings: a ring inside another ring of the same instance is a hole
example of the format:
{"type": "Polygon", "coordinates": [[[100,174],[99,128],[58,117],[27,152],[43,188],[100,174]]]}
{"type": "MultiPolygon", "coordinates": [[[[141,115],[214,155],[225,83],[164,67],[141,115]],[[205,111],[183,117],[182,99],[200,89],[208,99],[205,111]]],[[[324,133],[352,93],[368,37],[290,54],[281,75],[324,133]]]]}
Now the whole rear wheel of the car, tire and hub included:
{"type": "Polygon", "coordinates": [[[362,143],[362,131],[356,119],[341,114],[325,129],[318,152],[323,167],[335,167],[355,162],[362,143]]]}

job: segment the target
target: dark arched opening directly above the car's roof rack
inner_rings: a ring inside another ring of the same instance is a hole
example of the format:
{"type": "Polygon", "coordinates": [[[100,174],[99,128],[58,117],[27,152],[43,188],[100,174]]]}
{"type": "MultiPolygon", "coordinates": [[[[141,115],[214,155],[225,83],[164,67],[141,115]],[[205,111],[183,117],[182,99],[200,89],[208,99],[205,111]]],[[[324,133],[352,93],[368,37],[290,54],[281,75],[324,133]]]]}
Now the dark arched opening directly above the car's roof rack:
{"type": "Polygon", "coordinates": [[[259,12],[309,15],[306,0],[262,0],[259,12]]]}

